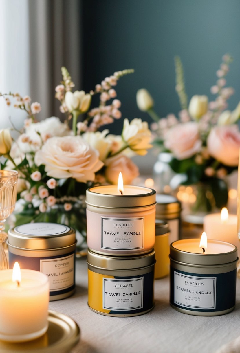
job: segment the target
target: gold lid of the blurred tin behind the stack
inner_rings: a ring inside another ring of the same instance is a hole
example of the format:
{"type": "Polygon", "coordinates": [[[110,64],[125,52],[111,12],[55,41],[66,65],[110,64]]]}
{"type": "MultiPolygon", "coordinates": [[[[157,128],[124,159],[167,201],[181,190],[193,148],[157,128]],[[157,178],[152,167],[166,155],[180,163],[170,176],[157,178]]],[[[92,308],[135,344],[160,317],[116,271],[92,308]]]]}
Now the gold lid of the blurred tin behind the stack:
{"type": "Polygon", "coordinates": [[[173,219],[180,216],[181,202],[172,195],[156,195],[156,218],[173,219]]]}

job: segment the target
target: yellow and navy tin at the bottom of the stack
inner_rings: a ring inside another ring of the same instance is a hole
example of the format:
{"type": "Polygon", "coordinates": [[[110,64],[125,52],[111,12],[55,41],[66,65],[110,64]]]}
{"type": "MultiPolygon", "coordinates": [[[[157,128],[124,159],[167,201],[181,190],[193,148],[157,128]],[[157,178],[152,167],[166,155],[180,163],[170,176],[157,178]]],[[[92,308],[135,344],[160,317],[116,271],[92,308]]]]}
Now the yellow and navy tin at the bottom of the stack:
{"type": "Polygon", "coordinates": [[[154,306],[155,251],[104,256],[88,250],[88,305],[107,316],[137,316],[154,306]]]}

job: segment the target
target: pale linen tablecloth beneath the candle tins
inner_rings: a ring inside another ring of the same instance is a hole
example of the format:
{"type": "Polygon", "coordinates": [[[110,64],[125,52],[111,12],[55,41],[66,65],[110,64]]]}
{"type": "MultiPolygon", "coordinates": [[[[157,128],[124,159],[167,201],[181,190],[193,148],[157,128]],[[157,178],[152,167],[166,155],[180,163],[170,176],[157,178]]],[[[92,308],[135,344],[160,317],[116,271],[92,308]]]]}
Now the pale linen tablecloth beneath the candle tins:
{"type": "Polygon", "coordinates": [[[169,277],[155,280],[155,307],[134,317],[99,315],[88,307],[86,258],[76,260],[76,292],[51,301],[50,310],[70,316],[81,330],[81,340],[72,353],[230,353],[222,347],[240,336],[240,279],[236,307],[222,316],[192,316],[169,305],[169,277]],[[222,348],[220,348],[222,347],[222,348]]]}

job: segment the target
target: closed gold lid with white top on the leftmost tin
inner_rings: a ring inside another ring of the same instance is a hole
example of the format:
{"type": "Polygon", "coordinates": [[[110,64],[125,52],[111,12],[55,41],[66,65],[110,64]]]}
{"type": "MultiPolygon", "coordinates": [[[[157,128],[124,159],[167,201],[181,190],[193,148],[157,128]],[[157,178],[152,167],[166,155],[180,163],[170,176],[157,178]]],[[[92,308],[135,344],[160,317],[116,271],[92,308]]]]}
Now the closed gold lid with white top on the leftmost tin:
{"type": "Polygon", "coordinates": [[[75,242],[74,229],[57,223],[27,223],[8,231],[8,243],[21,249],[58,249],[75,242]]]}

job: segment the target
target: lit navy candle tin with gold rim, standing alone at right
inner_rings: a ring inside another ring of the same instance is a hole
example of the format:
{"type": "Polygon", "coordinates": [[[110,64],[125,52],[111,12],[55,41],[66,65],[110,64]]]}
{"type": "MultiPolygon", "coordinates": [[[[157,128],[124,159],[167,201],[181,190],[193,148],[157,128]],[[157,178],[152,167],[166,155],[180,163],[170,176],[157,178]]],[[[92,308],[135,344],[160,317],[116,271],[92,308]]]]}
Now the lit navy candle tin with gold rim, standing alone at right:
{"type": "Polygon", "coordinates": [[[184,239],[170,245],[170,305],[189,315],[226,314],[235,307],[237,248],[210,239],[210,253],[203,253],[199,243],[184,239]]]}

